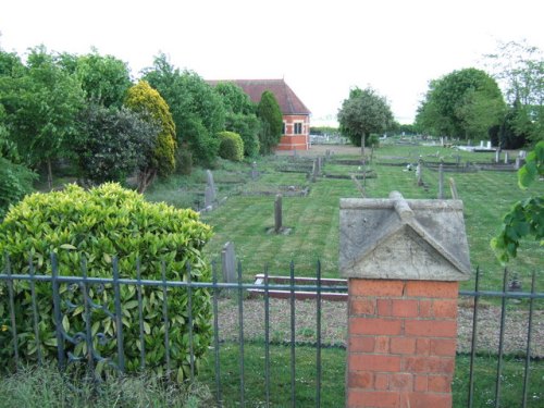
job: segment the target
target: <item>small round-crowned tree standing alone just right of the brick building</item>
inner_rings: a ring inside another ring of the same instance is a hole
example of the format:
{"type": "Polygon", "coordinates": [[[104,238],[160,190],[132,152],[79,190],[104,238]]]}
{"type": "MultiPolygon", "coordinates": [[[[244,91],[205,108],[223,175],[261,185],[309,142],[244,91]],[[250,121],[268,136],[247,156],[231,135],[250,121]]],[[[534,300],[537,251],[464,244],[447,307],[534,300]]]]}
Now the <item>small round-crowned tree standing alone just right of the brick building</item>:
{"type": "Polygon", "coordinates": [[[392,122],[387,100],[370,87],[351,89],[338,110],[341,132],[355,146],[364,146],[371,133],[385,132],[392,122]]]}

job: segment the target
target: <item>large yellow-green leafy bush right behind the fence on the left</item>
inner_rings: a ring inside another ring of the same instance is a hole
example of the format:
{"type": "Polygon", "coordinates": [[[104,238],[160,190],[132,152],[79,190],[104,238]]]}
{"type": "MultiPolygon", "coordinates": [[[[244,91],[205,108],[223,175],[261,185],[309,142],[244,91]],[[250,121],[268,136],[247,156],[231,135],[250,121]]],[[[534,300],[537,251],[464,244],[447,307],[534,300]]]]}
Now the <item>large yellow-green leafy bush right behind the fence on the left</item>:
{"type": "MultiPolygon", "coordinates": [[[[137,259],[141,263],[141,277],[161,280],[161,265],[165,265],[165,279],[186,281],[187,264],[191,265],[194,282],[211,279],[210,267],[202,256],[202,248],[211,236],[211,228],[199,222],[191,210],[177,210],[165,203],[150,203],[135,191],[121,188],[118,184],[103,184],[86,191],[70,185],[64,191],[34,194],[13,207],[0,224],[0,254],[5,265],[4,254],[9,254],[14,272],[28,273],[29,258],[37,274],[51,274],[48,261],[50,254],[59,260],[60,275],[81,273],[82,261],[86,259],[88,276],[111,277],[112,258],[119,257],[121,277],[135,279],[137,259]]],[[[39,311],[39,342],[33,327],[28,284],[14,285],[15,312],[17,322],[18,349],[23,358],[35,360],[37,347],[46,358],[57,354],[54,323],[52,319],[51,285],[37,283],[37,309],[39,311]]],[[[79,289],[70,289],[62,284],[63,300],[83,305],[79,289]]],[[[89,296],[95,304],[109,310],[113,308],[113,288],[106,285],[103,290],[89,287],[89,296]]],[[[126,370],[139,369],[140,347],[146,350],[146,368],[158,374],[165,372],[164,332],[162,320],[162,287],[143,288],[144,345],[139,341],[138,301],[136,287],[121,287],[123,310],[123,333],[126,370]]],[[[187,316],[187,292],[183,288],[168,289],[170,320],[170,358],[174,368],[172,374],[183,380],[189,372],[189,345],[187,316]]],[[[63,302],[63,325],[70,333],[85,332],[82,318],[83,306],[69,308],[63,302]]],[[[7,296],[0,297],[0,318],[7,318],[7,296]]],[[[193,289],[194,353],[196,367],[205,357],[211,339],[210,294],[205,288],[193,289]]],[[[7,319],[5,319],[7,320],[7,319]]],[[[10,324],[10,323],[8,323],[10,324]]],[[[116,327],[111,316],[103,310],[92,312],[91,332],[94,347],[103,357],[115,360],[116,327]],[[98,341],[97,333],[111,339],[98,341]]],[[[11,353],[12,339],[9,332],[0,333],[0,342],[5,345],[0,350],[0,362],[11,353]]],[[[72,345],[65,343],[66,351],[82,357],[86,353],[85,342],[72,345]]],[[[98,364],[97,370],[103,369],[98,364]]]]}

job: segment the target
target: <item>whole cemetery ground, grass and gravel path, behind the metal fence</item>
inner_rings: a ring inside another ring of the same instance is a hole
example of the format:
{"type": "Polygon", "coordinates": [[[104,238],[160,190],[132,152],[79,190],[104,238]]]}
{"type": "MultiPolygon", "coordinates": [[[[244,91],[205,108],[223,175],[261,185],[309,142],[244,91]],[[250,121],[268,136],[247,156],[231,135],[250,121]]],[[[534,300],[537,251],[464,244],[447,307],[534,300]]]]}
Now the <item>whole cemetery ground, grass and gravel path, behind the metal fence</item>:
{"type": "MultiPolygon", "coordinates": [[[[338,208],[342,197],[361,197],[361,193],[349,175],[356,175],[364,187],[366,197],[387,197],[390,191],[398,190],[407,199],[434,199],[438,193],[438,173],[423,168],[424,186],[418,186],[413,171],[418,160],[436,163],[443,159],[448,171],[445,173],[445,198],[450,198],[448,178],[453,177],[459,198],[465,206],[465,222],[469,239],[473,269],[482,271],[480,287],[502,290],[503,267],[490,248],[490,239],[497,233],[503,214],[510,206],[529,194],[542,194],[543,183],[536,183],[530,191],[517,186],[516,172],[505,171],[497,165],[492,170],[477,170],[481,164],[491,164],[494,153],[473,153],[457,151],[440,146],[395,146],[384,145],[374,150],[372,161],[360,161],[360,149],[347,146],[313,146],[308,152],[293,152],[256,159],[258,176],[251,176],[251,162],[231,163],[220,161],[211,169],[218,189],[217,206],[212,211],[201,213],[202,221],[213,226],[214,236],[207,246],[208,257],[221,261],[221,249],[226,242],[234,242],[236,257],[243,264],[244,282],[252,282],[264,268],[273,275],[288,275],[289,262],[294,261],[295,274],[314,276],[316,264],[320,260],[323,277],[339,277],[338,258],[338,208]],[[312,159],[325,156],[322,174],[311,181],[312,159]],[[460,157],[458,159],[458,156],[460,157]],[[459,162],[459,166],[457,166],[459,162]],[[467,166],[467,162],[473,163],[467,166]],[[456,171],[457,170],[457,171],[456,171]],[[362,174],[368,178],[363,180],[362,174]],[[372,171],[372,173],[370,172],[372,171]],[[371,175],[373,174],[373,175],[371,175]],[[345,178],[341,178],[345,176],[345,178]],[[375,176],[375,177],[374,177],[375,176]],[[255,178],[255,180],[254,180],[255,178]],[[270,233],[274,226],[274,197],[283,194],[283,224],[288,234],[270,233]]],[[[510,157],[515,157],[511,152],[510,157]]],[[[146,194],[149,200],[166,201],[176,207],[202,209],[207,174],[203,169],[194,169],[190,176],[175,175],[159,181],[146,194]]],[[[524,240],[518,259],[508,267],[521,282],[524,292],[530,290],[530,274],[539,273],[536,290],[544,292],[542,276],[544,248],[539,243],[524,240]]],[[[220,271],[220,267],[218,267],[220,271]]],[[[221,273],[221,272],[219,272],[221,273]]],[[[462,289],[473,289],[474,282],[461,283],[462,289]]],[[[454,406],[467,406],[468,379],[470,372],[470,338],[473,299],[460,298],[459,338],[456,372],[453,384],[454,406]]],[[[240,358],[244,357],[245,400],[248,407],[265,406],[264,392],[264,306],[262,298],[244,299],[244,354],[240,353],[239,327],[236,296],[221,294],[220,299],[220,361],[221,384],[224,406],[239,406],[240,358]]],[[[474,406],[493,405],[497,367],[498,326],[500,306],[498,300],[481,299],[479,337],[474,362],[474,406]]],[[[541,407],[544,400],[542,381],[544,380],[544,310],[542,302],[535,302],[539,310],[533,317],[533,344],[530,366],[529,407],[541,407]]],[[[296,301],[296,406],[311,407],[316,401],[316,301],[296,301]]],[[[272,406],[290,404],[290,347],[288,302],[270,301],[270,395],[272,406]]],[[[518,406],[523,384],[523,353],[527,338],[528,301],[507,301],[506,342],[504,345],[502,375],[502,406],[518,406]]],[[[326,407],[342,407],[345,399],[345,302],[323,301],[321,349],[321,403],[326,407]]],[[[39,375],[39,374],[38,374],[39,375]]],[[[211,391],[215,390],[214,356],[210,351],[207,363],[201,367],[198,378],[211,391]]],[[[33,379],[33,375],[27,375],[33,379]]],[[[22,381],[20,379],[20,381],[22,381]]],[[[9,385],[9,384],[8,384],[9,385]]],[[[7,382],[0,382],[0,390],[7,390],[7,382]]],[[[136,386],[137,388],[138,386],[136,386]]],[[[139,385],[141,387],[141,385],[139,385]]],[[[135,390],[136,390],[135,388],[135,390]]],[[[168,388],[168,387],[166,387],[168,388]]],[[[164,393],[172,393],[168,391],[164,393]]],[[[110,390],[110,388],[108,388],[110,390]]],[[[138,406],[128,403],[122,386],[111,390],[111,401],[120,400],[119,406],[138,406]]],[[[64,398],[73,391],[64,388],[64,398]]],[[[174,391],[175,393],[175,391],[174,391]]],[[[136,394],[136,393],[134,393],[136,394]]],[[[4,394],[8,395],[8,394],[4,394]]],[[[12,396],[13,394],[9,394],[12,396]]],[[[61,393],[62,395],[62,393],[61,393]]],[[[75,394],[74,394],[75,395],[75,394]]],[[[137,394],[136,394],[137,395],[137,394]]],[[[160,394],[159,394],[160,395],[160,394]]],[[[40,398],[39,396],[37,398],[40,398]]],[[[51,397],[53,398],[53,397],[51,397]]],[[[50,404],[62,406],[65,399],[53,399],[50,404]]],[[[74,398],[76,398],[74,396],[74,398]]],[[[96,398],[96,396],[95,396],[96,398]]],[[[201,388],[189,393],[180,406],[213,406],[213,398],[201,388]],[[185,405],[184,405],[185,404],[185,405]]],[[[9,405],[32,406],[22,399],[3,399],[9,405]],[[15,404],[14,404],[15,403],[15,404]]],[[[75,399],[73,399],[75,400],[75,399]]],[[[132,399],[134,400],[134,399],[132,399]]],[[[144,399],[143,399],[144,400],[144,399]]],[[[64,404],[65,405],[65,404],[64,404]]],[[[165,397],[157,397],[153,406],[175,406],[165,397]]],[[[44,406],[37,399],[35,406],[44,406]]],[[[45,405],[47,406],[47,405],[45,405]]],[[[77,406],[77,404],[75,405],[77,406]]],[[[85,406],[85,401],[79,405],[85,406]]],[[[141,406],[145,406],[141,405],[141,406]]]]}

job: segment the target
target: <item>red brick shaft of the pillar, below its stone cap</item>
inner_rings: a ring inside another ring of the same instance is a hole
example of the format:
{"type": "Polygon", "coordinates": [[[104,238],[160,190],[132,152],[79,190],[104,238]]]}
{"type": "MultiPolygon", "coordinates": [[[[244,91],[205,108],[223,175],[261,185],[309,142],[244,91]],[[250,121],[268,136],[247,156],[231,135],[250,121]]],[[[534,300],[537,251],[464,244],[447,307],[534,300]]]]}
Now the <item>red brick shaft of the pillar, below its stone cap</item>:
{"type": "Polygon", "coordinates": [[[349,279],[347,407],[452,407],[458,283],[349,279]]]}

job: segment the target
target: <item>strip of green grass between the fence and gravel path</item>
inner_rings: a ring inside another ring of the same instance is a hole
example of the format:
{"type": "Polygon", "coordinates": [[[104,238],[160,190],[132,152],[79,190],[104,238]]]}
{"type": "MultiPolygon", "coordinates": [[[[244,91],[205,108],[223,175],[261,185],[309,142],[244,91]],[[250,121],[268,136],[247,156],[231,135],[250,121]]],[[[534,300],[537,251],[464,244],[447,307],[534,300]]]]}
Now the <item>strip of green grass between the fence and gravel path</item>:
{"type": "MultiPolygon", "coordinates": [[[[264,406],[265,349],[262,344],[246,343],[244,346],[245,400],[249,407],[264,406]]],[[[210,356],[211,358],[211,356],[210,356]]],[[[343,348],[323,348],[321,350],[323,407],[343,407],[345,401],[345,358],[343,348]]],[[[221,346],[220,373],[222,395],[225,407],[239,406],[240,400],[240,350],[239,345],[227,343],[221,346]]],[[[317,348],[296,347],[295,398],[297,407],[316,406],[317,348]]],[[[272,406],[290,406],[290,348],[285,345],[270,347],[270,400],[272,406]]],[[[505,357],[500,376],[499,400],[502,407],[518,407],[522,399],[524,360],[505,357]]],[[[466,407],[469,397],[470,357],[457,356],[456,371],[452,384],[454,407],[466,407]]],[[[214,393],[213,360],[199,378],[214,393]]],[[[474,360],[473,406],[494,406],[495,384],[497,379],[497,357],[479,356],[474,360]]],[[[531,361],[529,370],[528,407],[542,407],[544,391],[544,362],[531,361]]]]}

